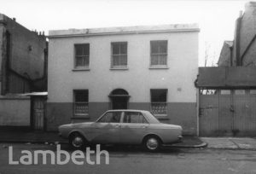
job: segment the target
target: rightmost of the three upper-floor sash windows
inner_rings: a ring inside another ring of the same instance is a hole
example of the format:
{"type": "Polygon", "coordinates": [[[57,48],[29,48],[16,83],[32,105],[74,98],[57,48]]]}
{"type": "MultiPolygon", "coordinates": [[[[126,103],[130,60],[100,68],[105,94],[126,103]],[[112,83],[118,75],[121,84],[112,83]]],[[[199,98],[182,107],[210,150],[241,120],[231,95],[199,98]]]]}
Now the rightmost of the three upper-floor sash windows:
{"type": "Polygon", "coordinates": [[[150,66],[167,66],[167,41],[150,41],[150,66]]]}

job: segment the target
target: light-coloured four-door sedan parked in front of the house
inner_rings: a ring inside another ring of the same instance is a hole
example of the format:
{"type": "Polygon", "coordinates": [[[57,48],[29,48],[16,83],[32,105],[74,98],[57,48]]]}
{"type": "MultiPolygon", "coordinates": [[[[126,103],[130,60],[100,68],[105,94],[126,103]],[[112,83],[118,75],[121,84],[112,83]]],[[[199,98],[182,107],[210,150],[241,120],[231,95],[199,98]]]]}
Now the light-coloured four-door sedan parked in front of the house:
{"type": "Polygon", "coordinates": [[[89,143],[142,144],[148,151],[156,151],[182,138],[181,126],[162,124],[143,110],[109,110],[95,122],[61,125],[59,132],[73,148],[89,143]]]}

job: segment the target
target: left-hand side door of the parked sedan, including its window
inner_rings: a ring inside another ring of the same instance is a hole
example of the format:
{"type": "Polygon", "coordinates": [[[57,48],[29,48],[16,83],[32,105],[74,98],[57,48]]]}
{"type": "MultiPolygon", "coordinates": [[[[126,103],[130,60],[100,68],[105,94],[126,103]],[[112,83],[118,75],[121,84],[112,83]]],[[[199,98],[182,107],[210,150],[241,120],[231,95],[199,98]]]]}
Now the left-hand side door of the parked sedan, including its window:
{"type": "Polygon", "coordinates": [[[102,144],[118,143],[121,115],[122,112],[108,112],[97,120],[91,126],[91,142],[102,144]]]}

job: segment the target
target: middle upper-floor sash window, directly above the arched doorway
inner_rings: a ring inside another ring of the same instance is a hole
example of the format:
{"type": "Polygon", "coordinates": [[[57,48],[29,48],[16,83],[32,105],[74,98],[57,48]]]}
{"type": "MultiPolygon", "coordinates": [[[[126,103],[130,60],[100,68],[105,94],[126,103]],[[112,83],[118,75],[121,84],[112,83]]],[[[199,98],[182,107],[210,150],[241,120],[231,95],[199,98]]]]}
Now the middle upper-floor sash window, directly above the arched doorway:
{"type": "Polygon", "coordinates": [[[127,43],[112,43],[111,67],[127,67],[127,43]]]}

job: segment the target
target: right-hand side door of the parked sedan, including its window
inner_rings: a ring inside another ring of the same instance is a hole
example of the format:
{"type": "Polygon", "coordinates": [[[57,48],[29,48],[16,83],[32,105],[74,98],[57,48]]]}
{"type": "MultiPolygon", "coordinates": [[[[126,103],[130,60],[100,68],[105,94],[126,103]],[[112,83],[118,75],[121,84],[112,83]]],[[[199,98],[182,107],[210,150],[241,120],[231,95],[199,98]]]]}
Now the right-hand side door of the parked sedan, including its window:
{"type": "Polygon", "coordinates": [[[120,128],[120,142],[139,144],[148,129],[148,121],[140,112],[124,112],[120,128]]]}

